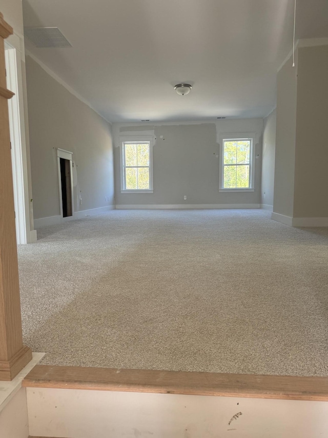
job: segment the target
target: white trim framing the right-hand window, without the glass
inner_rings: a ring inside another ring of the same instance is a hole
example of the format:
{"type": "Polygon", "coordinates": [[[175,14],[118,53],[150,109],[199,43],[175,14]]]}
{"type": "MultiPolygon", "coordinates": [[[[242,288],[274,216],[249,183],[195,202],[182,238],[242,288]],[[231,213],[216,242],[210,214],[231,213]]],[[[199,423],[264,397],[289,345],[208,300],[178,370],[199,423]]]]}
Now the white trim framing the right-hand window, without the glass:
{"type": "Polygon", "coordinates": [[[255,183],[255,146],[257,143],[256,132],[229,132],[220,134],[220,155],[219,155],[219,192],[254,192],[255,183]],[[224,140],[251,140],[250,153],[250,181],[251,186],[248,188],[224,188],[223,187],[223,141],[224,140]]]}

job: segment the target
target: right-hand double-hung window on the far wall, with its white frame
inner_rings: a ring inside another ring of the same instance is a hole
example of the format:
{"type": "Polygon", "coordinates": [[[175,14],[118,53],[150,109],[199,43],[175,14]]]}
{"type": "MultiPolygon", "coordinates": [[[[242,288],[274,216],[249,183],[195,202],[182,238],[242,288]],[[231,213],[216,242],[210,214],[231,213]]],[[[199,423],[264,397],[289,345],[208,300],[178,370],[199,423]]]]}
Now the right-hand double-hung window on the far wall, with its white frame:
{"type": "Polygon", "coordinates": [[[254,191],[253,137],[221,137],[220,191],[254,191]]]}

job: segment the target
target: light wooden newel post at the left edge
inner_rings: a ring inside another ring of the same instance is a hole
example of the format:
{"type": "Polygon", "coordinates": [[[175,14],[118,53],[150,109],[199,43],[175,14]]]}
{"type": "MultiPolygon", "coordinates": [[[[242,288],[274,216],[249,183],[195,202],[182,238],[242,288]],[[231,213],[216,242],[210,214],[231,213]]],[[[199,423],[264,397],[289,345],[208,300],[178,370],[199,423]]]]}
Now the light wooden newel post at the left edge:
{"type": "Polygon", "coordinates": [[[0,13],[0,380],[12,380],[32,359],[23,345],[4,39],[12,28],[0,13]]]}

